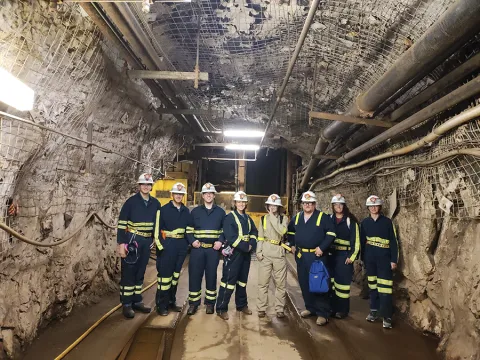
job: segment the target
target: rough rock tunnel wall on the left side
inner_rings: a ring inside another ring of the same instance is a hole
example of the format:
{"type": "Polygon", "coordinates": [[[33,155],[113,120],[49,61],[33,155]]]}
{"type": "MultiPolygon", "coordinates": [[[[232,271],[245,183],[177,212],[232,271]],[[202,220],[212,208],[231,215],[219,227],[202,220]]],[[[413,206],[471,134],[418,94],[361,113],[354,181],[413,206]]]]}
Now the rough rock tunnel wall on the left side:
{"type": "MultiPolygon", "coordinates": [[[[45,1],[0,5],[0,66],[36,94],[30,112],[0,110],[85,140],[91,122],[94,143],[131,158],[141,145],[142,161],[157,168],[173,157],[181,145],[177,125],[152,115],[159,104],[142,83],[126,80],[121,56],[80,7],[51,13],[45,1]]],[[[88,171],[85,143],[9,116],[0,116],[0,129],[3,222],[45,243],[71,234],[92,211],[115,224],[135,190],[135,162],[92,147],[88,171]],[[15,216],[7,214],[12,202],[15,216]]],[[[51,248],[1,231],[0,257],[0,337],[10,356],[74,305],[116,289],[115,232],[96,220],[51,248]]]]}

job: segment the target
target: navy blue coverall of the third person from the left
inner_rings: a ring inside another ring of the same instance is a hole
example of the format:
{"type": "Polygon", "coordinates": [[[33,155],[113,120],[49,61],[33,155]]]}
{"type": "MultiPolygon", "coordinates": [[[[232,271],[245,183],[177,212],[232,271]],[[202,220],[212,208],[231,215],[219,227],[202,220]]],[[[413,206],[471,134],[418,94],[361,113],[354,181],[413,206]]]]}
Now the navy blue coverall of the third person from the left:
{"type": "Polygon", "coordinates": [[[205,274],[204,303],[215,305],[217,300],[217,268],[220,261],[220,252],[213,249],[216,241],[222,244],[223,220],[225,210],[213,204],[211,209],[201,205],[192,210],[193,227],[187,227],[188,242],[193,244],[200,241],[199,248],[192,247],[188,264],[188,287],[190,305],[200,305],[202,298],[202,279],[205,274]]]}

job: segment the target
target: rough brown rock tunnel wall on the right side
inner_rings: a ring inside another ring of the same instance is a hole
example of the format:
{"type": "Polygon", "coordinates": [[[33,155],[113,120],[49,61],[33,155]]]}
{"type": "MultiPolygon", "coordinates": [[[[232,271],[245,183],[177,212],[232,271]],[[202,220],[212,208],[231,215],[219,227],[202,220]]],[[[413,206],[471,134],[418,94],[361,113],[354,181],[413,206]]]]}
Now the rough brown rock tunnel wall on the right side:
{"type": "MultiPolygon", "coordinates": [[[[443,121],[438,119],[429,128],[443,121]]],[[[411,142],[374,151],[379,154],[411,142]]],[[[415,327],[440,338],[438,350],[447,359],[480,357],[480,161],[462,155],[430,166],[420,162],[479,145],[480,119],[476,119],[427,150],[350,170],[315,187],[319,205],[329,213],[336,193],[346,197],[360,220],[368,216],[369,195],[386,199],[387,215],[396,208],[400,243],[396,307],[415,327]]]]}

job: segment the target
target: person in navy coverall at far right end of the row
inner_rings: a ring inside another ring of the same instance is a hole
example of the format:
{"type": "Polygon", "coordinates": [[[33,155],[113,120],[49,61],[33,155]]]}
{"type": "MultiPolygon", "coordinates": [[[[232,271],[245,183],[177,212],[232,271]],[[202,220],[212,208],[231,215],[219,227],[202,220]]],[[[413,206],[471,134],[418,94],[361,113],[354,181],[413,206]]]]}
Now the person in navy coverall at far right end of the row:
{"type": "Polygon", "coordinates": [[[370,289],[367,321],[375,322],[383,317],[383,327],[391,329],[393,270],[397,268],[399,257],[397,234],[392,220],[381,213],[382,199],[370,195],[365,205],[370,216],[362,221],[360,239],[370,289]]]}

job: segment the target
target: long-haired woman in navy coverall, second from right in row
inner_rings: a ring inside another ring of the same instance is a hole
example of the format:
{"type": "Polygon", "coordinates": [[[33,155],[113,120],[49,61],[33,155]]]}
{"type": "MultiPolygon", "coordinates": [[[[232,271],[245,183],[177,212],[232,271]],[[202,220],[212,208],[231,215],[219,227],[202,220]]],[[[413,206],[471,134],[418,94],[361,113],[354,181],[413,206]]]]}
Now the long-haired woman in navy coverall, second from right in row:
{"type": "Polygon", "coordinates": [[[353,262],[360,251],[358,220],[348,209],[345,197],[337,194],[332,198],[332,219],[335,227],[331,279],[333,287],[332,313],[337,319],[350,312],[350,285],[353,277],[353,262]]]}

